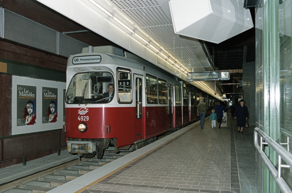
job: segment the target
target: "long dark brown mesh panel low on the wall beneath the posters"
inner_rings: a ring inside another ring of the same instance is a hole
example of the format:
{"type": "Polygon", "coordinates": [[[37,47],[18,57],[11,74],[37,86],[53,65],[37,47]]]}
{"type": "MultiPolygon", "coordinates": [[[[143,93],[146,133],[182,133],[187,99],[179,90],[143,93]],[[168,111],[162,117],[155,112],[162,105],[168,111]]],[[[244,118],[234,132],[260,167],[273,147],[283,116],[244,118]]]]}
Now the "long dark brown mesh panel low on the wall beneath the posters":
{"type": "Polygon", "coordinates": [[[4,160],[60,147],[60,132],[3,139],[4,160]]]}

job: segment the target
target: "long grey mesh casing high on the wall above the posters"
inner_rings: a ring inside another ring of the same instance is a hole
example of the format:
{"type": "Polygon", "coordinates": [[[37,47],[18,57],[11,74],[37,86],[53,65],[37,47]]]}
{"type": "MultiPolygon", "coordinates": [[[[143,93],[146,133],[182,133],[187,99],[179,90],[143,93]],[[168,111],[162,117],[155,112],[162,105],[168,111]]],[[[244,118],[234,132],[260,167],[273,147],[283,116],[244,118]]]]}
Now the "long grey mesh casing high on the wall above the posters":
{"type": "Polygon", "coordinates": [[[69,57],[89,45],[0,7],[0,38],[69,57]]]}

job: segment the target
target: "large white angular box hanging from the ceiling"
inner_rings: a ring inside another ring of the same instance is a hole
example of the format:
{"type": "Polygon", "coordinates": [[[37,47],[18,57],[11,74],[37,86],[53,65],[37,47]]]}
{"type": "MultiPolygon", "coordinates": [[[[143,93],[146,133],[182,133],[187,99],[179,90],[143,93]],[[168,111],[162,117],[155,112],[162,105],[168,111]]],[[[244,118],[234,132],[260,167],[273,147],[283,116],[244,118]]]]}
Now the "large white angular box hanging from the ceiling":
{"type": "Polygon", "coordinates": [[[170,0],[174,32],[220,43],[253,28],[243,0],[170,0]]]}

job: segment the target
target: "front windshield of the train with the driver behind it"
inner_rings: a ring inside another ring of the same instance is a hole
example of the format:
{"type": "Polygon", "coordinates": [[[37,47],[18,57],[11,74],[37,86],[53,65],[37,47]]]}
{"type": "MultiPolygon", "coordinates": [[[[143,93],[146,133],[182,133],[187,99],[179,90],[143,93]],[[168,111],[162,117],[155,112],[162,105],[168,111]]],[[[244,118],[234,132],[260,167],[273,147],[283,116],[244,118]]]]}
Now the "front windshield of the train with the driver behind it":
{"type": "Polygon", "coordinates": [[[113,100],[113,75],[109,72],[84,72],[75,74],[66,94],[66,103],[101,104],[113,100]]]}

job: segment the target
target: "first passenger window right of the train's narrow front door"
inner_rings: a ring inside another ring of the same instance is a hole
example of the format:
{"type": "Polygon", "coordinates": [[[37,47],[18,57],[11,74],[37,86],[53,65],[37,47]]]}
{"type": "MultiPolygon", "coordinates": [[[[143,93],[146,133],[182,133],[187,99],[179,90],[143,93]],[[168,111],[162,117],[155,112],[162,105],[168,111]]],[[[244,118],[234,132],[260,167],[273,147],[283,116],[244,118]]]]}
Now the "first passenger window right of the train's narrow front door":
{"type": "Polygon", "coordinates": [[[157,78],[146,74],[147,104],[158,104],[157,78]]]}

